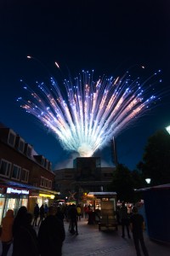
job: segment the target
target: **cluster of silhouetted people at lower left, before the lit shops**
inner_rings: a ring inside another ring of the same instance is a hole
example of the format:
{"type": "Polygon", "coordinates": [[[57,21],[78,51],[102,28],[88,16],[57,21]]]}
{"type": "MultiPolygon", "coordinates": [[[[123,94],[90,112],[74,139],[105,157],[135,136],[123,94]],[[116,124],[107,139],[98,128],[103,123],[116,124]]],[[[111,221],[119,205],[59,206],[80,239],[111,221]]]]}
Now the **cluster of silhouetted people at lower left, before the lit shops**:
{"type": "Polygon", "coordinates": [[[65,227],[59,215],[59,207],[34,207],[34,214],[20,207],[14,217],[13,210],[8,210],[2,221],[1,241],[2,256],[8,255],[13,244],[12,256],[47,256],[61,255],[62,243],[65,240],[65,227]],[[39,230],[36,232],[37,218],[39,230]]]}

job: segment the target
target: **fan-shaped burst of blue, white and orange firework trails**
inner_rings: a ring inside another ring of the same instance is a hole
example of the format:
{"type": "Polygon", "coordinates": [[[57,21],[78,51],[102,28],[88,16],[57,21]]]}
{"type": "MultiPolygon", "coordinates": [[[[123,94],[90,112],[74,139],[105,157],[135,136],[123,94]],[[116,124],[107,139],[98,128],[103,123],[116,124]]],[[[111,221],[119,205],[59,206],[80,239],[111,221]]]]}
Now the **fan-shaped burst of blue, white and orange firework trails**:
{"type": "Polygon", "coordinates": [[[155,96],[146,97],[149,89],[143,90],[144,83],[132,80],[128,73],[94,82],[93,76],[83,71],[74,82],[65,79],[64,85],[66,100],[54,79],[50,88],[37,83],[40,96],[25,86],[33,99],[18,100],[23,102],[21,108],[59,137],[66,150],[77,151],[80,156],[90,157],[104,148],[155,101],[155,96]]]}

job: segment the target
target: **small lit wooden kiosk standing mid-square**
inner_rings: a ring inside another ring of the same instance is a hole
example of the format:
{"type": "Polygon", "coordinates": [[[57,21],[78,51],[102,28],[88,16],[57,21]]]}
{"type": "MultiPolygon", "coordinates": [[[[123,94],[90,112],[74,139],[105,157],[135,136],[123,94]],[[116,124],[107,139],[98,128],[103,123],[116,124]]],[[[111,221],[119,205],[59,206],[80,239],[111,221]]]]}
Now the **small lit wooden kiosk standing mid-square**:
{"type": "Polygon", "coordinates": [[[116,192],[89,192],[94,197],[94,211],[99,214],[99,230],[114,227],[117,230],[116,220],[116,192]]]}

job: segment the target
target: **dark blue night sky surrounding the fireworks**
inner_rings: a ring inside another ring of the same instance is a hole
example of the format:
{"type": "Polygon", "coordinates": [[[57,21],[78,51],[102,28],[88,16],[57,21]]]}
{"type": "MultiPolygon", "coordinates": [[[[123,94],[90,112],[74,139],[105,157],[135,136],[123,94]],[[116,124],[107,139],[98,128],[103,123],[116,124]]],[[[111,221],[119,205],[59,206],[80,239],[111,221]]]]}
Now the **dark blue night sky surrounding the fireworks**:
{"type": "MultiPolygon", "coordinates": [[[[82,69],[99,75],[122,75],[144,65],[144,76],[161,69],[159,90],[170,88],[170,3],[151,0],[9,1],[0,3],[0,122],[31,143],[54,164],[71,155],[16,102],[23,95],[20,79],[55,79],[58,61],[65,77],[82,69]],[[36,60],[27,60],[26,55],[36,60]]],[[[136,70],[136,75],[138,74],[136,70]]],[[[170,123],[170,96],[136,125],[116,137],[118,160],[135,168],[150,135],[170,123]]],[[[98,152],[110,165],[111,148],[98,152]]]]}

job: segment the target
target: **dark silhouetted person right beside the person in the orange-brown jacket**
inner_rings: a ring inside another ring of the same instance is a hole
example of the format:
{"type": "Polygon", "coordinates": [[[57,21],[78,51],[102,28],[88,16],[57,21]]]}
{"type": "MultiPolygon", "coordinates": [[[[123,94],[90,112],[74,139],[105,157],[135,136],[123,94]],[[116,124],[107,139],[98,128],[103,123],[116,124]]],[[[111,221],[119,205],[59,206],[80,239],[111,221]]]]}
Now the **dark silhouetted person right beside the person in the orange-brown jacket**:
{"type": "Polygon", "coordinates": [[[39,256],[37,233],[31,225],[32,214],[26,212],[19,231],[14,236],[12,256],[39,256]]]}

